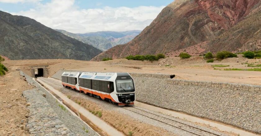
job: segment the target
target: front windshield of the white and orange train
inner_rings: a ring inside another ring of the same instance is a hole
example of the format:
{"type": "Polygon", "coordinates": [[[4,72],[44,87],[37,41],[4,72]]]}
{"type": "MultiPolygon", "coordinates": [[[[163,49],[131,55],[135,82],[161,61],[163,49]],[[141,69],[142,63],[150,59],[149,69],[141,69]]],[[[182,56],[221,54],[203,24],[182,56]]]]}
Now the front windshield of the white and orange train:
{"type": "Polygon", "coordinates": [[[117,92],[133,92],[133,82],[131,79],[126,80],[116,80],[117,92]]]}

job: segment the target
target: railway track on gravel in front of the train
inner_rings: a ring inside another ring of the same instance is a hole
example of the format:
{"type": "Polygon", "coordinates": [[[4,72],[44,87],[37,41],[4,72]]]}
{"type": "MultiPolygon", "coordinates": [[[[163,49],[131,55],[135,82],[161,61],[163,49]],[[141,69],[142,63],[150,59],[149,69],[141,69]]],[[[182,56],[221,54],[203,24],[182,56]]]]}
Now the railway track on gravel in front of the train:
{"type": "Polygon", "coordinates": [[[215,134],[213,132],[209,132],[207,130],[200,129],[195,126],[182,123],[180,121],[172,120],[172,119],[169,119],[169,118],[166,118],[166,117],[154,114],[154,113],[150,113],[150,112],[142,110],[140,108],[135,108],[135,107],[122,107],[122,108],[129,110],[131,112],[140,114],[142,116],[148,117],[150,119],[162,122],[164,124],[171,125],[173,127],[176,127],[178,129],[187,131],[189,133],[192,133],[192,134],[195,134],[198,136],[205,136],[205,135],[222,136],[220,134],[215,134]],[[159,119],[159,118],[161,118],[161,119],[159,119]],[[172,123],[170,123],[170,122],[172,122],[172,123]]]}

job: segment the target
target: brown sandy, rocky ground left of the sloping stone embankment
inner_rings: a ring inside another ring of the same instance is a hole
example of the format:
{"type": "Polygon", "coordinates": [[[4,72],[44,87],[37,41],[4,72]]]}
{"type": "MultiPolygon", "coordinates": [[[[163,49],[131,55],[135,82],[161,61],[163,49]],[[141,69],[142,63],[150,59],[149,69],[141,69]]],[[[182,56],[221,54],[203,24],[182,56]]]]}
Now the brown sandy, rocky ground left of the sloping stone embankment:
{"type": "Polygon", "coordinates": [[[10,70],[0,77],[0,136],[29,135],[25,130],[29,111],[22,92],[31,88],[19,71],[10,70]]]}

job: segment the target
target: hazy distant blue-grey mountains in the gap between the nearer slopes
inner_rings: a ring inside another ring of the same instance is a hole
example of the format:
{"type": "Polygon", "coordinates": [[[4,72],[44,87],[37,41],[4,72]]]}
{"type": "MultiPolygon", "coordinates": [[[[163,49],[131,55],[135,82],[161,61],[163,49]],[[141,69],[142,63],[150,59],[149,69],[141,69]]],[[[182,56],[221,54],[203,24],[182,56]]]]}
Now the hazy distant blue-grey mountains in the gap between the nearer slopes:
{"type": "Polygon", "coordinates": [[[126,31],[126,32],[113,32],[101,31],[90,32],[84,34],[74,34],[65,30],[58,30],[66,36],[80,40],[83,43],[93,45],[95,48],[106,51],[119,44],[126,44],[131,41],[135,36],[140,34],[140,30],[126,31]]]}

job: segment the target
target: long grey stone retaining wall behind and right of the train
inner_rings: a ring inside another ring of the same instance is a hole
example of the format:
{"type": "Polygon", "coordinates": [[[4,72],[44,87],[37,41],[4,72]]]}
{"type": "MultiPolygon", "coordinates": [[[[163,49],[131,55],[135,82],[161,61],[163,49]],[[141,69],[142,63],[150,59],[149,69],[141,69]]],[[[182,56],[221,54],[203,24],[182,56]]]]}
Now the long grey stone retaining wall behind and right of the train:
{"type": "MultiPolygon", "coordinates": [[[[52,77],[61,80],[65,70],[52,77]]],[[[261,134],[261,86],[131,73],[136,100],[261,134]]]]}

